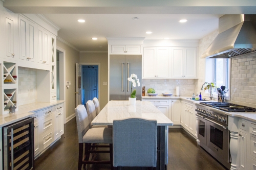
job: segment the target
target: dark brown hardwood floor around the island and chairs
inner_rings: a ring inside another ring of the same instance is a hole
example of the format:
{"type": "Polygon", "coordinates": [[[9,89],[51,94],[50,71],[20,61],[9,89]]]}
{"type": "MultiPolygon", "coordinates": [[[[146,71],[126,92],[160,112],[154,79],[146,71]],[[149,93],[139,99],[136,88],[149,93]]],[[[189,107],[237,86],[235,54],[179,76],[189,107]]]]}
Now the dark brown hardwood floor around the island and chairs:
{"type": "MultiPolygon", "coordinates": [[[[168,170],[226,169],[215,158],[197,145],[196,139],[185,130],[170,128],[168,139],[168,170]]],[[[109,160],[108,154],[99,154],[100,159],[109,160]]],[[[98,159],[97,156],[94,159],[98,159]]],[[[35,160],[35,169],[77,169],[78,135],[76,119],[65,125],[65,133],[45,153],[35,160]]],[[[87,165],[87,169],[110,169],[110,165],[87,165]]],[[[140,168],[136,168],[140,169],[140,168]]]]}

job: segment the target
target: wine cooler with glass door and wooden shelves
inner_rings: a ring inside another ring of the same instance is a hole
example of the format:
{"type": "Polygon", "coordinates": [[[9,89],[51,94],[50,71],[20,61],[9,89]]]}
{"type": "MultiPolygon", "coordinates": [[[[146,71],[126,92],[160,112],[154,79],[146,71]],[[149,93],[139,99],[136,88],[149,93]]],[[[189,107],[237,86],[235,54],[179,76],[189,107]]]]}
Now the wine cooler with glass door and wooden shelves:
{"type": "Polygon", "coordinates": [[[3,127],[3,169],[34,169],[34,118],[3,127]]]}

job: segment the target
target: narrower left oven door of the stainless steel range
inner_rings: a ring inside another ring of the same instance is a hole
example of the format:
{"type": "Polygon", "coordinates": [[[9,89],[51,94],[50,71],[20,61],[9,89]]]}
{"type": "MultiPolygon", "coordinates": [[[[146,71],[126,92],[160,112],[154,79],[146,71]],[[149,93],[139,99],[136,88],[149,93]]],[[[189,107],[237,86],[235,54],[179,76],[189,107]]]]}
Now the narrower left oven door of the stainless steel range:
{"type": "Polygon", "coordinates": [[[207,140],[207,130],[206,130],[206,126],[207,126],[207,120],[205,120],[203,118],[203,116],[197,114],[198,116],[198,134],[197,137],[200,140],[200,145],[201,146],[206,146],[206,140],[207,140]]]}

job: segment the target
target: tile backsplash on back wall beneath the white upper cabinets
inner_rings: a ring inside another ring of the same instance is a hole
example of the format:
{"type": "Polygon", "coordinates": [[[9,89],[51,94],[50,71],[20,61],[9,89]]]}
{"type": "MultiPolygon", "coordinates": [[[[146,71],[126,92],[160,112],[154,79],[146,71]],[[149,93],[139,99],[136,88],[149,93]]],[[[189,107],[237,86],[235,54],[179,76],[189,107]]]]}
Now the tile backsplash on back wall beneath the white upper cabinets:
{"type": "Polygon", "coordinates": [[[143,79],[142,86],[145,86],[145,95],[148,88],[154,88],[158,95],[162,93],[173,93],[176,95],[176,86],[179,86],[179,95],[192,96],[195,92],[195,79],[143,79]]]}

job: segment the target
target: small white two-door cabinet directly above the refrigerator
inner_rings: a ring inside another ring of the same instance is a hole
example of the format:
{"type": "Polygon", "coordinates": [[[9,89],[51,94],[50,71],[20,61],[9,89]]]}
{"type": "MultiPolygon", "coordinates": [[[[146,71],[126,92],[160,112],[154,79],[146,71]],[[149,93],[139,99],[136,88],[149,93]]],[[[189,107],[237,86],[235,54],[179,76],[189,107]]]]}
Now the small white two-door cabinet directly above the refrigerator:
{"type": "Polygon", "coordinates": [[[141,54],[140,45],[111,45],[111,54],[141,54]]]}

